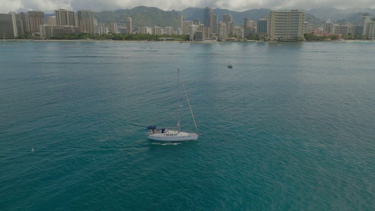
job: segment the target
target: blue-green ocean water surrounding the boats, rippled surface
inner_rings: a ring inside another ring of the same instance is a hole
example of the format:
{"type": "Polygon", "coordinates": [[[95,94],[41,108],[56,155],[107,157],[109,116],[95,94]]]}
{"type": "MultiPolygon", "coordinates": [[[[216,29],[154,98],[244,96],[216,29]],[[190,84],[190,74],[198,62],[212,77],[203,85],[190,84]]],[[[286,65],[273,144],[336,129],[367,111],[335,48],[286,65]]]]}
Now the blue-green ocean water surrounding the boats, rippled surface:
{"type": "Polygon", "coordinates": [[[0,209],[374,210],[374,54],[375,42],[1,42],[0,209]],[[147,140],[147,125],[177,124],[177,68],[202,135],[147,140]]]}

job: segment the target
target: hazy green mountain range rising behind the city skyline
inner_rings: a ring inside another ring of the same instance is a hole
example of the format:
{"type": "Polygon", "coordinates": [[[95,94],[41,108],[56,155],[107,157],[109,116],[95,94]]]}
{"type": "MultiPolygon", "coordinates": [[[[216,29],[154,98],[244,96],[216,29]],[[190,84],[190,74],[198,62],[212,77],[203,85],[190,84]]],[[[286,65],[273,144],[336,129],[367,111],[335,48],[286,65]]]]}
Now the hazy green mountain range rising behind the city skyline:
{"type": "MultiPolygon", "coordinates": [[[[243,12],[230,11],[228,9],[214,9],[214,14],[218,15],[218,21],[222,20],[223,14],[231,14],[235,26],[240,26],[243,18],[249,20],[259,20],[260,18],[267,18],[272,9],[251,9],[243,12]]],[[[336,9],[336,8],[314,8],[306,12],[306,21],[311,26],[319,27],[323,20],[331,19],[340,24],[347,22],[360,23],[360,17],[363,13],[375,15],[375,9],[371,8],[351,8],[351,9],[336,9]],[[314,23],[314,24],[312,24],[314,23]]],[[[45,14],[45,16],[52,16],[54,14],[45,14]]],[[[138,6],[132,9],[117,9],[115,11],[101,11],[94,12],[94,17],[99,24],[107,23],[108,19],[116,21],[121,26],[126,23],[126,18],[132,18],[133,29],[141,26],[173,26],[177,27],[177,15],[183,15],[184,20],[194,20],[199,18],[202,21],[203,8],[186,8],[182,11],[163,11],[155,7],[138,6]]]]}

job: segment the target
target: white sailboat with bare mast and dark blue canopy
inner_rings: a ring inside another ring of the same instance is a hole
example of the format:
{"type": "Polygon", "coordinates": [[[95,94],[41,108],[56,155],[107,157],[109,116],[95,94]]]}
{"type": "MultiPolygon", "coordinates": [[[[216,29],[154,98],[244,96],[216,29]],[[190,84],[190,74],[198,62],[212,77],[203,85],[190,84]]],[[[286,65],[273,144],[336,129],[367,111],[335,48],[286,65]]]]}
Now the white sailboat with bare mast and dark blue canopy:
{"type": "Polygon", "coordinates": [[[185,90],[185,86],[182,83],[187,99],[187,103],[189,104],[191,116],[194,121],[194,125],[196,128],[196,133],[188,133],[188,132],[182,132],[180,127],[180,111],[182,105],[180,105],[180,70],[177,69],[177,88],[178,88],[178,123],[177,127],[156,127],[156,125],[150,125],[147,127],[147,130],[150,130],[150,133],[148,134],[148,139],[150,140],[157,140],[157,141],[163,141],[163,142],[181,142],[181,141],[194,141],[198,139],[199,131],[196,127],[193,111],[190,106],[189,98],[187,98],[187,93],[185,90]]]}

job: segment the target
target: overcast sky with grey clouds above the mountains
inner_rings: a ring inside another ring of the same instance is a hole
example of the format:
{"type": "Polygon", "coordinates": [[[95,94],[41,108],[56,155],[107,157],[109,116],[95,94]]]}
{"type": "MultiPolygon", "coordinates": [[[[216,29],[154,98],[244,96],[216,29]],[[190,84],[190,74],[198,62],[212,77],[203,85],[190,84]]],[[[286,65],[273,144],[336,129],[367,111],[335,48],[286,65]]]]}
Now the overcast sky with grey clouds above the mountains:
{"type": "Polygon", "coordinates": [[[27,12],[30,10],[54,13],[60,2],[61,9],[77,11],[89,9],[94,12],[115,9],[131,9],[136,6],[157,7],[162,10],[183,10],[188,7],[229,9],[245,11],[255,8],[311,9],[319,7],[375,8],[374,0],[0,0],[0,13],[27,12]]]}

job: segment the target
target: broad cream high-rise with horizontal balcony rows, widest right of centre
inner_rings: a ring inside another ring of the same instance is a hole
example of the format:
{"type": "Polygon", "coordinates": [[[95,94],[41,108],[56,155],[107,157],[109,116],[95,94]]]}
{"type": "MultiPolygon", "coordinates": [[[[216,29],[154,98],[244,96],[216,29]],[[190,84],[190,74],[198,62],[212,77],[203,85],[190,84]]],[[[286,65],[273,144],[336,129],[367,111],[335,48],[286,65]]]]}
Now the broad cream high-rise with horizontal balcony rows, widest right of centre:
{"type": "Polygon", "coordinates": [[[303,39],[305,12],[298,9],[288,12],[271,11],[268,24],[268,38],[303,39]]]}

